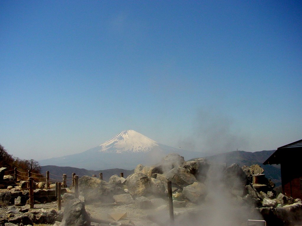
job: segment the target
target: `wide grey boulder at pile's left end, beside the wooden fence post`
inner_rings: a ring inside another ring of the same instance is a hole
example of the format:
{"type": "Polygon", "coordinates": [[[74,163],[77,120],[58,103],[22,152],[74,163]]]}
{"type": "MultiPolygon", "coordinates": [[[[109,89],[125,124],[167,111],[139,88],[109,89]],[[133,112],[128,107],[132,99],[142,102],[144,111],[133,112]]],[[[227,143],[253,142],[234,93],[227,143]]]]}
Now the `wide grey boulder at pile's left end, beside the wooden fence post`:
{"type": "Polygon", "coordinates": [[[79,193],[85,197],[86,202],[113,202],[113,196],[125,193],[114,184],[100,180],[96,177],[83,176],[79,179],[79,193]]]}

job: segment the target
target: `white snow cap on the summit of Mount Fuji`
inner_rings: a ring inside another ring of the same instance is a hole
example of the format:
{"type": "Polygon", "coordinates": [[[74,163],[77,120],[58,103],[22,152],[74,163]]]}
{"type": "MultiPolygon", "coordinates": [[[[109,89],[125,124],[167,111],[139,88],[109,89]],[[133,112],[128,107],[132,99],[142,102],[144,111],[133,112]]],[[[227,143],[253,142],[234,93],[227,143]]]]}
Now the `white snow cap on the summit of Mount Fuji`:
{"type": "Polygon", "coordinates": [[[120,134],[101,144],[100,152],[149,152],[158,143],[134,130],[124,130],[120,134]]]}

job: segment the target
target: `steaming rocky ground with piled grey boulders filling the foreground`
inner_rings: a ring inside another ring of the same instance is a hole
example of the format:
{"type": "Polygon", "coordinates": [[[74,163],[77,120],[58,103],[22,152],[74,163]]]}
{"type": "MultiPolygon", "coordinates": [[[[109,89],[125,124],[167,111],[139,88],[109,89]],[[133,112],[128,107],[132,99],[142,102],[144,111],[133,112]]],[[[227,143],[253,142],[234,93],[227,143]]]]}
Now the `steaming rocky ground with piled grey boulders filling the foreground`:
{"type": "MultiPolygon", "coordinates": [[[[268,225],[274,226],[292,226],[300,222],[300,199],[282,193],[277,195],[272,190],[274,185],[264,177],[265,174],[256,175],[262,178],[258,180],[261,183],[251,184],[249,178],[260,170],[262,168],[259,165],[244,168],[236,164],[229,167],[211,165],[202,158],[186,162],[182,156],[169,154],[159,164],[138,165],[134,174],[127,178],[113,175],[107,182],[96,177],[82,176],[78,181],[79,199],[74,199],[74,191],[65,188],[64,192],[61,190],[62,211],[56,212],[56,202],[35,204],[34,209],[29,209],[28,205],[20,208],[22,212],[28,212],[23,214],[25,218],[32,218],[27,222],[55,223],[56,226],[88,226],[89,219],[92,219],[92,226],[108,225],[113,221],[122,223],[122,226],[163,226],[170,225],[167,193],[172,193],[175,226],[262,226],[263,222],[247,222],[263,219],[269,222],[268,225]],[[83,211],[84,203],[86,211],[83,211]],[[112,214],[124,217],[114,220],[112,214]]],[[[24,204],[28,191],[21,185],[18,184],[15,191],[0,194],[0,203],[2,200],[3,203],[24,204]],[[24,191],[20,192],[22,189],[24,191]]],[[[36,186],[35,201],[44,203],[49,201],[49,197],[55,197],[55,189],[45,190],[43,183],[36,186]]],[[[9,217],[2,221],[0,218],[0,226],[1,222],[26,221],[25,218],[20,221],[21,216],[19,221],[15,220],[21,213],[19,210],[10,212],[9,208],[0,210],[0,216],[9,217]]]]}

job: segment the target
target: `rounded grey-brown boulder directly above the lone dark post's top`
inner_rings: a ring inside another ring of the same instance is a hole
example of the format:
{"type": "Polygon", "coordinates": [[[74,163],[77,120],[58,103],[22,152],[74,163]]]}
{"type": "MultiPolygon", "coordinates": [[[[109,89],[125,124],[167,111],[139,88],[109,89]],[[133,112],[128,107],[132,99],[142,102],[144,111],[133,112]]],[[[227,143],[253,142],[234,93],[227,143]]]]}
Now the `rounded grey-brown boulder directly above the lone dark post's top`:
{"type": "Polygon", "coordinates": [[[182,167],[171,169],[166,173],[166,179],[181,188],[193,184],[196,181],[195,176],[182,167]]]}

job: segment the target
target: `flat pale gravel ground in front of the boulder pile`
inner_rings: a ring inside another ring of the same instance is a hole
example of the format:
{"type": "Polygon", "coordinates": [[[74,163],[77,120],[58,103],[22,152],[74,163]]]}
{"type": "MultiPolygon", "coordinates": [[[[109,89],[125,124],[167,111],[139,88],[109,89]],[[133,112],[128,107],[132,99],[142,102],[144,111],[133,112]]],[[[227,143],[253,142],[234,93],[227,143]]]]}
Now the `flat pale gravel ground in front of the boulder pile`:
{"type": "MultiPolygon", "coordinates": [[[[62,210],[64,210],[65,204],[62,204],[62,210]]],[[[21,206],[21,209],[29,209],[29,205],[21,206]]],[[[10,207],[2,207],[0,208],[0,217],[6,217],[10,207]]],[[[57,203],[52,202],[48,204],[35,204],[34,209],[29,209],[29,212],[40,211],[41,209],[45,211],[50,211],[51,209],[58,210],[57,203]]],[[[128,205],[108,205],[95,202],[93,204],[85,205],[86,212],[90,215],[91,218],[99,219],[103,221],[113,222],[115,221],[110,217],[110,213],[127,213],[127,216],[118,220],[118,222],[127,225],[133,226],[162,226],[169,225],[169,209],[168,206],[162,206],[157,209],[138,209],[134,204],[128,205]]],[[[205,214],[207,212],[206,206],[198,206],[192,203],[188,203],[186,207],[182,208],[174,208],[174,217],[175,217],[175,225],[194,225],[194,219],[198,219],[201,215],[207,216],[205,214]],[[199,216],[199,217],[198,217],[199,216]]],[[[17,217],[19,214],[13,214],[11,217],[17,217]]],[[[201,219],[201,218],[200,218],[201,219]]],[[[224,220],[224,225],[234,225],[233,219],[228,217],[220,218],[224,220]],[[227,222],[230,222],[229,224],[227,222]]],[[[208,221],[208,219],[206,220],[208,221]]],[[[214,221],[214,220],[213,220],[214,221]]],[[[199,222],[198,224],[200,224],[199,222]]],[[[209,223],[209,222],[208,222],[209,223]]],[[[34,224],[36,226],[49,226],[50,224],[34,224]]],[[[102,223],[92,222],[91,225],[108,225],[102,223]]],[[[211,224],[207,224],[211,225],[211,224]]],[[[236,225],[243,226],[246,225],[245,219],[242,219],[241,222],[238,222],[236,225]]],[[[2,226],[2,225],[1,225],[2,226]]]]}

